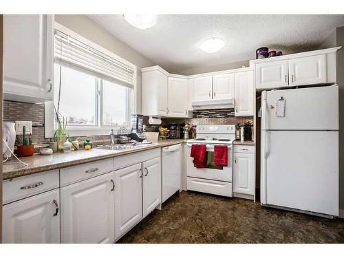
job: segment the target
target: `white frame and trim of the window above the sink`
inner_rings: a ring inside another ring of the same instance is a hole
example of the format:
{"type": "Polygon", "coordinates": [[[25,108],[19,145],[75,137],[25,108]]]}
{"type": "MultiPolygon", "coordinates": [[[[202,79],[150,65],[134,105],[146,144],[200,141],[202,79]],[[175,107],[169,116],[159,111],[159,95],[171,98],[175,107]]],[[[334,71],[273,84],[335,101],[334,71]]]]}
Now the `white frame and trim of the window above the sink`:
{"type": "MultiPolygon", "coordinates": [[[[103,78],[98,78],[96,76],[96,125],[67,125],[67,133],[70,136],[103,136],[109,134],[111,129],[117,131],[120,127],[125,127],[127,129],[131,129],[131,114],[135,114],[137,110],[137,67],[130,63],[129,61],[117,56],[116,54],[106,50],[105,48],[97,45],[96,43],[85,39],[83,36],[76,34],[72,30],[65,28],[60,23],[55,22],[55,28],[64,32],[65,34],[69,34],[70,36],[74,37],[74,39],[78,39],[83,43],[94,47],[96,50],[103,52],[113,58],[118,59],[118,61],[125,63],[129,67],[131,67],[134,71],[133,73],[133,89],[127,87],[127,108],[126,108],[126,117],[127,117],[127,125],[103,125],[103,78]]],[[[110,82],[111,83],[111,82],[110,82]]],[[[54,85],[55,87],[56,85],[54,85]]],[[[56,121],[54,119],[54,92],[53,92],[53,100],[45,102],[45,138],[52,138],[54,137],[54,131],[56,128],[56,121]]]]}

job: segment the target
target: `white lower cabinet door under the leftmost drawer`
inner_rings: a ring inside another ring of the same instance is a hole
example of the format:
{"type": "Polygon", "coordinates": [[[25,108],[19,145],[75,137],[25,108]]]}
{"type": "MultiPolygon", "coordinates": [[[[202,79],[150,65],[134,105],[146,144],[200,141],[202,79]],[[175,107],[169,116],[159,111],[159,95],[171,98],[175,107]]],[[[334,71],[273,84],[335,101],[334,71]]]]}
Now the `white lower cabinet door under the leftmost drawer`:
{"type": "Polygon", "coordinates": [[[58,189],[3,206],[3,243],[60,243],[58,189]]]}

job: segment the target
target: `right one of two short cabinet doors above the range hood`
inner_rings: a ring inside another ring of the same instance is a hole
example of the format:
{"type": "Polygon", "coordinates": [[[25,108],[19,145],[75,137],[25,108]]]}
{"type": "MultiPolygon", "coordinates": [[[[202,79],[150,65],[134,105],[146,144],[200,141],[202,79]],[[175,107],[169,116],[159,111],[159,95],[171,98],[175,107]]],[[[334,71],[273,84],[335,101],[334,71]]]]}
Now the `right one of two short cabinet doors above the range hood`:
{"type": "Polygon", "coordinates": [[[219,74],[213,77],[213,98],[234,98],[235,74],[219,74]]]}

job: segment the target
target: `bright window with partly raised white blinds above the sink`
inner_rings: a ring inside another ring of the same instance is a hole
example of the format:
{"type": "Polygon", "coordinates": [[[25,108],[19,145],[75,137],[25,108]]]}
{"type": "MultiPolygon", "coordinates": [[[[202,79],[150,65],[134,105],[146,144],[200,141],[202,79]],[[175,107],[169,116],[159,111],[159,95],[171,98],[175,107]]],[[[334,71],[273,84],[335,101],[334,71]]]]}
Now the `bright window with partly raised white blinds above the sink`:
{"type": "Polygon", "coordinates": [[[55,28],[54,102],[45,103],[45,137],[54,135],[54,106],[71,136],[130,128],[136,66],[58,23],[55,28]]]}

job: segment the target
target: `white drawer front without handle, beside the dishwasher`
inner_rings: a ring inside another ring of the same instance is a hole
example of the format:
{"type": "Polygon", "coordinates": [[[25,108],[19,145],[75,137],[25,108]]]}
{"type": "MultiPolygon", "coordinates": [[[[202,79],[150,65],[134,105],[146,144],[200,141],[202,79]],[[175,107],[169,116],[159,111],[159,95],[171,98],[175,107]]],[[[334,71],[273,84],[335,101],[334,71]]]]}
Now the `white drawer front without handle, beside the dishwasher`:
{"type": "Polygon", "coordinates": [[[160,148],[149,149],[148,151],[140,151],[138,153],[131,153],[127,155],[122,155],[115,157],[115,169],[122,169],[125,166],[131,166],[133,164],[138,164],[146,160],[151,160],[153,158],[158,158],[161,155],[160,148]]]}

